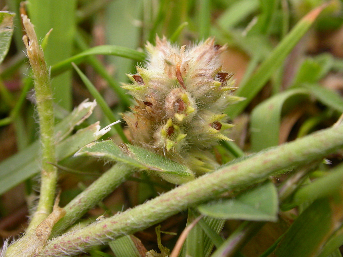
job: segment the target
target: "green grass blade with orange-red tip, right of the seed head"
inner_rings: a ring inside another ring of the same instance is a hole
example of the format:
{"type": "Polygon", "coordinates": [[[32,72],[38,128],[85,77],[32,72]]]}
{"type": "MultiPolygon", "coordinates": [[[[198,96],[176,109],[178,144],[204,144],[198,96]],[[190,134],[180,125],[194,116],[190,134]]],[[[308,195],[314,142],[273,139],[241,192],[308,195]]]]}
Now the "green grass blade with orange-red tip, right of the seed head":
{"type": "Polygon", "coordinates": [[[245,97],[246,100],[227,108],[227,113],[232,118],[237,117],[237,115],[239,115],[245,109],[249,102],[262,89],[265,83],[267,83],[273,73],[280,68],[288,53],[308,31],[322,9],[323,7],[318,7],[303,17],[303,19],[301,19],[295,25],[291,32],[289,32],[288,35],[282,39],[279,45],[274,48],[267,59],[261,63],[256,73],[248,79],[246,84],[241,85],[237,89],[236,95],[239,97],[245,97]]]}

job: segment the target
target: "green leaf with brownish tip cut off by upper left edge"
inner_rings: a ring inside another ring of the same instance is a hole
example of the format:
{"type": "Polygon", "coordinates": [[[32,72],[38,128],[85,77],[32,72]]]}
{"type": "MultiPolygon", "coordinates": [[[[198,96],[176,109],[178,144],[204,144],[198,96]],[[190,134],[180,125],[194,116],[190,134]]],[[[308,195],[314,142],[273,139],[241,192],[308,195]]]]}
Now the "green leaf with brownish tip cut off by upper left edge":
{"type": "Polygon", "coordinates": [[[2,63],[10,48],[14,15],[14,13],[10,12],[0,12],[0,63],[2,63]]]}

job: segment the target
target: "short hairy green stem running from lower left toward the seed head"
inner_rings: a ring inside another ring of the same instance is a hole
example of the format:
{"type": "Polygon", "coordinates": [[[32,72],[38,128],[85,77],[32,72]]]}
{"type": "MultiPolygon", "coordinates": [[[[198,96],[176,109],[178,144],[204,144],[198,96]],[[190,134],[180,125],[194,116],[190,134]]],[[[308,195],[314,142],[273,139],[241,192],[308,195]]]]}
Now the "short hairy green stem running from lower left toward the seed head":
{"type": "Polygon", "coordinates": [[[60,235],[64,230],[79,220],[88,210],[114,191],[127,180],[136,170],[126,164],[117,163],[100,178],[88,186],[85,191],[76,196],[64,209],[66,215],[60,219],[51,232],[51,237],[60,235]]]}

